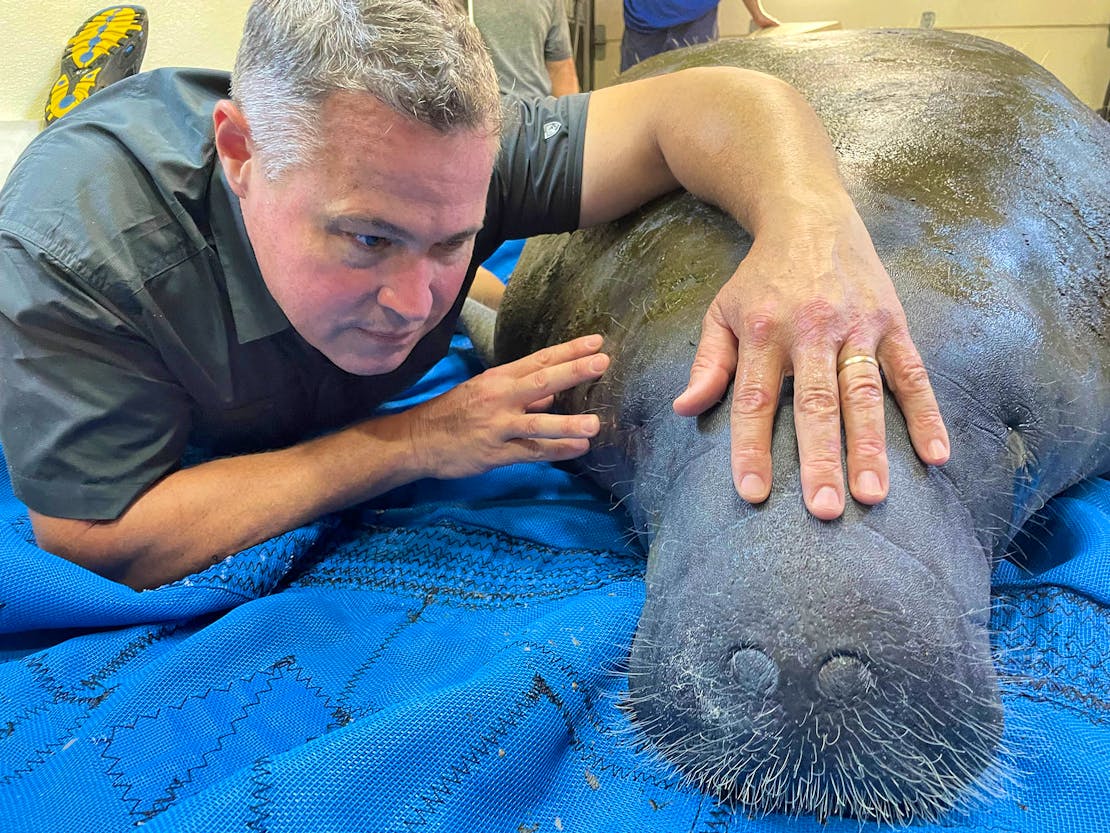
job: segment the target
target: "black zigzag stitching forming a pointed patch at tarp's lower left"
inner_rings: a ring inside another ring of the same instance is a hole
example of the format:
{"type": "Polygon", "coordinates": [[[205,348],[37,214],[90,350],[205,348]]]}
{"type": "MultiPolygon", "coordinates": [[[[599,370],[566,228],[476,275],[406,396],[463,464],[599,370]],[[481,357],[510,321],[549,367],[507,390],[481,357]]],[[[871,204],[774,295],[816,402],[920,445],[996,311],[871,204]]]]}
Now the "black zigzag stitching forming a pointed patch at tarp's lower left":
{"type": "MultiPolygon", "coordinates": [[[[213,755],[216,752],[222,751],[224,739],[231,737],[232,735],[234,735],[234,734],[238,733],[238,729],[236,729],[235,724],[239,723],[239,722],[241,722],[241,721],[243,721],[243,720],[245,720],[249,716],[250,710],[253,709],[254,706],[259,705],[262,702],[261,695],[265,694],[266,692],[273,691],[273,682],[274,682],[274,680],[278,680],[278,679],[282,678],[283,673],[286,670],[290,670],[290,669],[292,669],[293,672],[294,672],[293,673],[293,680],[295,682],[307,683],[305,685],[305,689],[307,691],[310,691],[310,692],[315,693],[317,696],[322,697],[324,700],[324,707],[325,709],[331,705],[331,699],[326,694],[323,693],[323,690],[320,686],[311,684],[312,683],[312,678],[310,675],[307,675],[307,674],[304,674],[304,675],[301,674],[301,672],[304,671],[304,669],[302,666],[300,666],[300,665],[296,664],[295,658],[293,658],[293,656],[286,656],[284,659],[279,660],[278,662],[273,663],[272,665],[270,665],[268,669],[265,669],[263,671],[255,672],[254,674],[251,674],[248,678],[240,678],[239,680],[229,683],[226,688],[223,688],[223,686],[210,686],[209,689],[206,689],[204,691],[203,694],[190,694],[189,696],[184,697],[178,704],[171,703],[169,705],[160,706],[159,709],[157,709],[154,711],[153,714],[140,714],[131,723],[121,723],[121,724],[117,724],[114,726],[111,726],[111,734],[109,735],[108,743],[105,744],[104,750],[100,753],[100,756],[103,760],[105,760],[105,761],[111,761],[112,762],[111,765],[107,770],[104,770],[104,774],[111,776],[111,784],[112,784],[112,786],[117,787],[117,789],[119,789],[121,786],[124,787],[123,794],[120,796],[120,801],[122,801],[124,804],[131,804],[131,809],[128,811],[128,815],[137,816],[137,817],[139,817],[139,819],[141,819],[143,821],[149,821],[150,819],[153,819],[154,816],[159,815],[160,813],[163,813],[167,810],[169,810],[173,805],[173,803],[178,800],[178,795],[176,795],[178,791],[181,787],[186,786],[189,783],[191,783],[193,781],[194,773],[199,772],[200,770],[203,770],[205,766],[209,765],[209,756],[210,755],[213,755]],[[133,789],[134,784],[131,784],[131,783],[128,783],[128,782],[123,781],[122,780],[123,779],[123,773],[122,772],[115,772],[115,773],[112,772],[115,769],[117,764],[121,764],[123,762],[123,759],[121,759],[121,757],[119,757],[117,755],[109,754],[109,750],[112,746],[112,742],[115,740],[117,732],[119,732],[121,729],[134,730],[139,725],[139,722],[143,721],[143,720],[158,720],[159,715],[163,711],[165,711],[167,709],[173,709],[175,711],[181,711],[181,710],[184,709],[185,703],[188,703],[190,700],[204,700],[204,699],[206,699],[208,696],[210,696],[211,694],[213,694],[215,692],[220,692],[220,693],[226,694],[226,693],[229,693],[231,691],[231,689],[236,683],[250,683],[250,682],[252,682],[253,680],[255,680],[259,676],[263,676],[265,679],[265,686],[262,688],[262,689],[260,689],[259,691],[256,691],[254,693],[253,701],[241,704],[241,711],[240,711],[240,713],[235,717],[233,717],[231,720],[231,724],[230,724],[231,731],[224,732],[223,734],[221,734],[220,736],[216,737],[216,740],[215,740],[215,746],[212,746],[211,749],[206,750],[201,755],[201,763],[200,764],[196,764],[195,766],[190,766],[190,767],[188,767],[185,770],[185,777],[184,779],[180,779],[178,776],[173,777],[173,781],[170,782],[169,787],[168,787],[168,793],[169,793],[168,795],[163,795],[163,796],[160,796],[159,799],[154,800],[154,802],[151,805],[150,810],[140,811],[139,806],[140,806],[140,804],[142,804],[143,800],[142,799],[129,799],[128,797],[128,793],[133,789]]],[[[310,741],[313,741],[317,736],[319,735],[313,735],[311,737],[305,737],[304,742],[307,743],[310,741]]]]}

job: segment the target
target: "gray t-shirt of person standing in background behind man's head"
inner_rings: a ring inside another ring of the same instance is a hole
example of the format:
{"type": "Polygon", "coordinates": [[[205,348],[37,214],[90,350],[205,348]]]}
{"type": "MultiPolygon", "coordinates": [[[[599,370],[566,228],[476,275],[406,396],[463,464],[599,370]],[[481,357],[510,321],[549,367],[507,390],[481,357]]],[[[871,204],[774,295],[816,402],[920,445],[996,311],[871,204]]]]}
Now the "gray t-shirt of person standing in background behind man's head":
{"type": "Polygon", "coordinates": [[[548,61],[573,57],[564,0],[473,0],[503,96],[552,94],[548,61]]]}

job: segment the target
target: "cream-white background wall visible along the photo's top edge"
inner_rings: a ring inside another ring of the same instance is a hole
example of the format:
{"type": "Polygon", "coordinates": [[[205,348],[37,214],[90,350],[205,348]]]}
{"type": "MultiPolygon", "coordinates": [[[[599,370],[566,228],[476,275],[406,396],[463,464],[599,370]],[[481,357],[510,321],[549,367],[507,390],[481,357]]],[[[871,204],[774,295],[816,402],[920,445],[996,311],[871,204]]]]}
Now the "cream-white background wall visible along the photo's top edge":
{"type": "MultiPolygon", "coordinates": [[[[523,0],[522,0],[523,1],[523,0]]],[[[623,29],[620,0],[595,0],[608,44],[597,83],[616,74],[623,29]]],[[[18,44],[0,72],[0,179],[38,129],[42,106],[58,73],[65,41],[105,0],[0,0],[0,31],[18,44]],[[49,9],[49,13],[44,12],[49,9]]],[[[144,69],[168,66],[230,69],[249,0],[143,0],[150,16],[144,69]]],[[[1056,73],[1090,107],[1099,107],[1110,81],[1110,2],[1106,0],[764,0],[787,21],[838,20],[846,29],[915,27],[925,11],[936,27],[995,38],[1020,49],[1056,73]]],[[[722,0],[725,37],[748,30],[740,0],[722,0]]]]}

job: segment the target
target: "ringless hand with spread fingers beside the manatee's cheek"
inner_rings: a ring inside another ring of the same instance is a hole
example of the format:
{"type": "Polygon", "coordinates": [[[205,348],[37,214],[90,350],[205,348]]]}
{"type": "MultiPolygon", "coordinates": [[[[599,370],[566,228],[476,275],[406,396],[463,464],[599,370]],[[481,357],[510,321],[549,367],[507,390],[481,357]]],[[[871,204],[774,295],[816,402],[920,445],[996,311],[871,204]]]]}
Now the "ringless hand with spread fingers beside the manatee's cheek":
{"type": "Polygon", "coordinates": [[[595,414],[546,413],[561,391],[598,379],[609,358],[584,335],[491,368],[408,411],[413,459],[426,476],[481,474],[500,465],[572,460],[589,450],[595,414]]]}

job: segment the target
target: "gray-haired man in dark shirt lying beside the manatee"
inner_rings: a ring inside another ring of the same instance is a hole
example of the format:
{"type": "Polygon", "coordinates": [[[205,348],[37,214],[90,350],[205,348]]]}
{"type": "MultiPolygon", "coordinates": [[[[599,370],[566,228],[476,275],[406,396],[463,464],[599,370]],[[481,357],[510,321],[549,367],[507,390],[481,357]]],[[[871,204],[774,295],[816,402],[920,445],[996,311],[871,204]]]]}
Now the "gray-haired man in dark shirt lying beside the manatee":
{"type": "Polygon", "coordinates": [[[739,493],[767,496],[790,372],[818,516],[844,508],[841,410],[852,495],[886,495],[879,363],[919,454],[947,459],[889,278],[786,84],[707,69],[514,102],[498,150],[493,68],[452,0],[258,0],[226,87],[120,81],[0,198],[0,442],[43,549],[150,588],[418,478],[584,453],[597,418],[545,409],[604,373],[589,334],[372,414],[444,353],[502,239],[679,184],[755,235],[674,405],[735,378],[739,493]]]}

